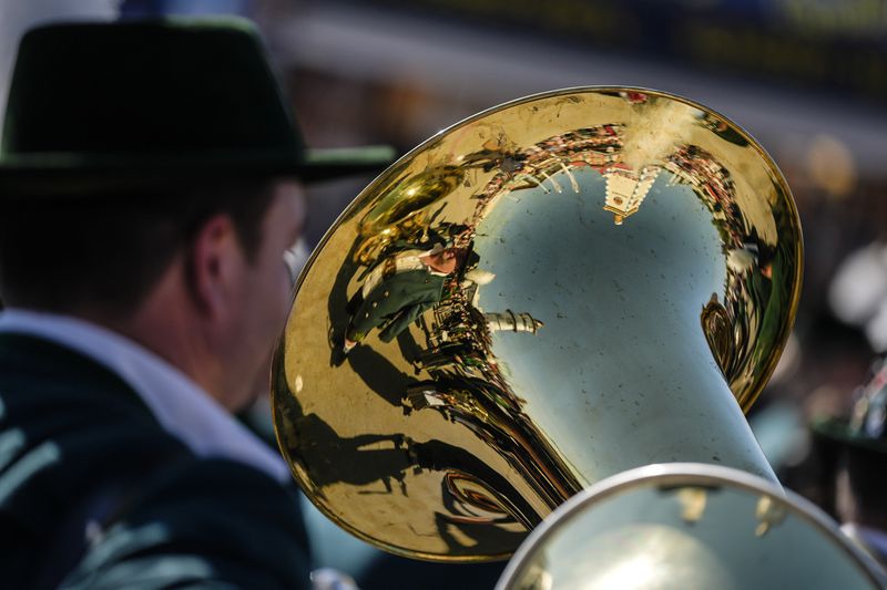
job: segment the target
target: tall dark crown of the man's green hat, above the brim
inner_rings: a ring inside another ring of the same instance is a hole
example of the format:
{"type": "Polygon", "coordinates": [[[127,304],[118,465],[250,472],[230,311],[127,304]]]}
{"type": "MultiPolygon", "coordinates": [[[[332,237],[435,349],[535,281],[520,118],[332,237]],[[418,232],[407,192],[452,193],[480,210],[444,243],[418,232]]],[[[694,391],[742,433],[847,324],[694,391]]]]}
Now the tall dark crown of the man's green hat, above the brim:
{"type": "Polygon", "coordinates": [[[53,24],[23,38],[0,158],[226,152],[302,154],[247,21],[53,24]]]}

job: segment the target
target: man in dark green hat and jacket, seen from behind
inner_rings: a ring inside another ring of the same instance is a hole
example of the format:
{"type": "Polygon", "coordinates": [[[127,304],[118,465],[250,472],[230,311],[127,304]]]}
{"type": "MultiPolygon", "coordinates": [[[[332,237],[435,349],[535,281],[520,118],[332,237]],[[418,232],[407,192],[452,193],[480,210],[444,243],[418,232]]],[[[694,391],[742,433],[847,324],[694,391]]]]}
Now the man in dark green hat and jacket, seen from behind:
{"type": "Polygon", "coordinates": [[[231,413],[288,311],[304,147],[237,20],[21,42],[0,144],[0,584],[308,586],[289,470],[231,413]]]}

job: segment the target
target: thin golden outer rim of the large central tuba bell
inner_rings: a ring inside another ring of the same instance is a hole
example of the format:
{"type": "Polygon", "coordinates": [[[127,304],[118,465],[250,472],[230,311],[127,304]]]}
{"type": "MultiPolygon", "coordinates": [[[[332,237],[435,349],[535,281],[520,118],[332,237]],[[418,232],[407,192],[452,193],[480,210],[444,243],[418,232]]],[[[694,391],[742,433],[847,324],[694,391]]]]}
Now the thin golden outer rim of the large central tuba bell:
{"type": "MultiPolygon", "coordinates": [[[[477,113],[477,114],[475,114],[472,116],[469,116],[469,117],[467,117],[467,118],[465,118],[465,120],[462,120],[462,121],[460,121],[458,123],[455,123],[453,125],[451,125],[451,126],[438,132],[434,136],[429,137],[428,139],[422,142],[421,144],[416,146],[414,149],[411,149],[410,152],[405,154],[402,157],[400,157],[388,169],[386,169],[379,176],[377,176],[366,188],[364,188],[364,190],[361,190],[360,194],[349,204],[349,206],[346,207],[346,209],[338,216],[338,218],[333,224],[333,226],[326,231],[324,237],[318,242],[317,247],[313,250],[312,255],[309,256],[309,258],[308,258],[305,267],[303,268],[302,272],[299,273],[299,277],[298,277],[298,279],[296,281],[295,291],[294,291],[295,298],[297,298],[299,291],[305,286],[305,282],[306,282],[306,280],[307,280],[307,278],[308,278],[308,276],[310,273],[310,270],[315,266],[315,263],[316,263],[318,257],[322,255],[322,252],[324,252],[326,250],[329,241],[335,236],[336,231],[343,226],[343,224],[345,224],[346,221],[350,220],[357,213],[359,213],[360,207],[365,205],[365,197],[374,195],[375,193],[379,192],[379,188],[383,187],[386,182],[390,180],[391,178],[397,177],[400,172],[406,169],[406,167],[407,167],[407,165],[409,163],[411,163],[417,156],[421,155],[424,152],[426,152],[427,149],[432,147],[441,137],[448,136],[448,135],[452,134],[453,132],[457,132],[458,130],[463,128],[467,125],[470,125],[473,122],[477,122],[477,121],[482,120],[482,118],[485,118],[485,117],[487,117],[487,116],[489,116],[491,114],[498,113],[498,112],[507,110],[507,108],[513,108],[516,106],[520,106],[522,104],[531,103],[531,102],[539,101],[539,100],[542,100],[542,99],[553,99],[553,97],[565,96],[565,95],[575,94],[575,93],[585,93],[585,92],[590,92],[590,93],[595,93],[595,92],[597,93],[634,93],[634,92],[644,93],[644,94],[646,94],[649,96],[652,96],[652,97],[661,97],[661,99],[665,99],[665,100],[669,100],[669,101],[674,101],[676,103],[681,103],[681,104],[684,104],[686,106],[690,106],[690,107],[693,107],[693,108],[697,108],[697,110],[702,111],[703,113],[715,115],[716,117],[718,117],[720,120],[722,120],[726,124],[728,124],[733,130],[735,130],[740,134],[740,136],[742,138],[744,138],[748,143],[750,146],[753,147],[753,149],[757,154],[758,158],[763,163],[765,163],[766,167],[772,172],[772,177],[773,177],[774,184],[778,186],[778,189],[779,189],[779,192],[782,193],[782,195],[784,197],[783,201],[781,201],[781,203],[785,206],[786,215],[788,217],[792,217],[795,220],[797,220],[797,217],[798,217],[797,216],[797,210],[796,210],[796,206],[794,204],[794,200],[792,199],[792,196],[791,196],[792,195],[791,189],[788,188],[788,185],[787,185],[782,172],[776,166],[775,162],[767,154],[767,152],[761,146],[761,144],[757,143],[751,136],[751,134],[748,134],[744,128],[742,128],[740,125],[737,125],[735,122],[733,122],[728,117],[725,117],[721,113],[718,113],[718,112],[716,112],[716,111],[714,111],[714,110],[712,110],[712,108],[710,108],[710,107],[707,107],[707,106],[705,106],[703,104],[700,104],[697,102],[691,101],[691,100],[685,99],[683,96],[674,95],[674,94],[671,94],[671,93],[667,93],[667,92],[654,91],[654,90],[636,87],[636,86],[575,86],[575,87],[568,87],[568,89],[561,89],[561,90],[555,90],[555,91],[549,91],[549,92],[542,92],[542,93],[532,94],[532,95],[529,95],[529,96],[524,96],[524,97],[521,97],[521,99],[509,101],[509,102],[499,104],[497,106],[492,106],[490,108],[487,108],[485,111],[481,111],[481,112],[479,112],[479,113],[477,113]]],[[[794,230],[797,232],[797,235],[799,237],[799,235],[801,235],[799,225],[795,225],[794,230]]],[[[794,242],[794,245],[793,245],[793,248],[794,248],[795,258],[797,260],[802,260],[803,259],[803,241],[801,239],[796,240],[794,242]]],[[[793,286],[795,286],[795,288],[792,290],[791,300],[787,302],[787,306],[786,306],[787,310],[786,310],[786,313],[785,313],[785,322],[783,323],[783,325],[781,328],[781,332],[779,332],[778,337],[775,337],[773,339],[774,345],[769,351],[769,355],[768,355],[766,365],[764,365],[762,368],[762,371],[759,373],[757,373],[755,382],[754,382],[754,386],[751,387],[746,392],[745,395],[737,397],[737,402],[738,402],[740,407],[742,408],[743,412],[746,412],[751,407],[751,405],[755,401],[755,398],[759,395],[759,393],[763,390],[764,385],[766,384],[766,381],[768,380],[769,375],[775,370],[776,363],[778,361],[778,356],[779,356],[782,350],[784,349],[784,346],[785,346],[785,344],[787,342],[787,339],[788,339],[788,335],[789,335],[789,332],[791,332],[791,325],[793,325],[794,319],[795,319],[795,315],[796,315],[796,312],[797,312],[802,272],[803,271],[802,271],[801,265],[799,263],[795,265],[794,266],[794,276],[791,278],[791,283],[793,286]]],[[[285,333],[282,337],[282,340],[281,340],[281,343],[279,343],[279,346],[278,346],[278,354],[275,355],[275,368],[273,369],[273,375],[276,374],[277,372],[283,372],[284,371],[285,340],[287,339],[287,337],[289,334],[288,323],[289,322],[287,322],[287,329],[285,330],[285,333]]],[[[277,395],[277,393],[278,392],[273,386],[272,387],[273,420],[274,420],[274,423],[275,423],[275,431],[277,432],[278,446],[279,446],[283,455],[288,458],[287,449],[286,449],[284,441],[282,438],[282,434],[281,434],[279,429],[277,429],[277,427],[276,427],[276,425],[278,423],[278,418],[279,418],[278,414],[281,413],[278,404],[274,402],[274,397],[277,395]]],[[[294,474],[296,480],[298,482],[299,486],[303,487],[303,489],[306,490],[306,495],[308,496],[308,498],[312,500],[312,503],[325,516],[327,516],[330,520],[333,520],[339,527],[344,528],[345,530],[347,530],[351,535],[358,537],[359,539],[365,540],[367,542],[370,542],[370,544],[373,544],[373,545],[375,545],[375,546],[377,546],[377,547],[379,547],[381,549],[385,549],[385,550],[387,550],[389,552],[392,552],[392,553],[396,553],[396,555],[400,555],[400,556],[405,556],[405,557],[412,557],[412,558],[418,558],[418,559],[427,559],[427,560],[442,561],[442,562],[446,562],[446,561],[451,561],[451,562],[456,562],[456,561],[458,561],[458,562],[491,561],[491,560],[500,560],[500,559],[507,558],[507,557],[509,557],[511,555],[511,551],[508,551],[508,552],[502,552],[502,553],[498,553],[498,555],[487,553],[487,555],[480,556],[480,557],[466,558],[465,556],[453,557],[453,556],[443,556],[443,555],[440,555],[440,553],[424,552],[424,551],[416,550],[416,549],[402,549],[402,548],[400,548],[398,546],[394,546],[394,545],[387,544],[387,542],[380,540],[378,537],[373,536],[369,532],[367,532],[367,531],[365,531],[365,530],[363,530],[363,529],[360,529],[360,528],[358,528],[356,526],[353,526],[350,522],[348,522],[347,520],[345,520],[344,518],[341,518],[337,514],[335,514],[332,509],[329,509],[324,503],[319,501],[318,498],[316,498],[309,491],[310,484],[312,484],[310,479],[307,478],[307,477],[303,477],[299,473],[297,473],[297,470],[293,467],[292,463],[290,463],[290,468],[293,469],[293,474],[294,474]]]]}

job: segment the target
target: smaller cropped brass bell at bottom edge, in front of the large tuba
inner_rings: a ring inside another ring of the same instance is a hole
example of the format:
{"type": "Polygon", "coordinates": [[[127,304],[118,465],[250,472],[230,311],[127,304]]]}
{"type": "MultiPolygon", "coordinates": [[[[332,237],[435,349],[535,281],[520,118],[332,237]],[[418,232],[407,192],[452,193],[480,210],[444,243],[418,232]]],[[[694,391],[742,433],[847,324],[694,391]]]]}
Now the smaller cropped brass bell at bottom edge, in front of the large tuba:
{"type": "Polygon", "coordinates": [[[571,498],[520,547],[496,588],[875,590],[885,582],[877,563],[799,496],[744,472],[671,464],[624,472],[571,498]]]}

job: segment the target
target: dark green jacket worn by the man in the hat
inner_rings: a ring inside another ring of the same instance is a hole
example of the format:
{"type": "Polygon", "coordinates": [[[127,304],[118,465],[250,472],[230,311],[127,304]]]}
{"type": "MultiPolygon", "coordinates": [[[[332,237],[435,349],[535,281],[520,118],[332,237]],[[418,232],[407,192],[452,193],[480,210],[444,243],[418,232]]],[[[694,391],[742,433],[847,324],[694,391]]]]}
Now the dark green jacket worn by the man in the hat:
{"type": "Polygon", "coordinates": [[[308,588],[293,490],[193,455],[115,374],[0,334],[0,587],[308,588]]]}

